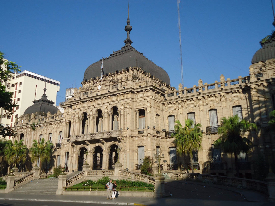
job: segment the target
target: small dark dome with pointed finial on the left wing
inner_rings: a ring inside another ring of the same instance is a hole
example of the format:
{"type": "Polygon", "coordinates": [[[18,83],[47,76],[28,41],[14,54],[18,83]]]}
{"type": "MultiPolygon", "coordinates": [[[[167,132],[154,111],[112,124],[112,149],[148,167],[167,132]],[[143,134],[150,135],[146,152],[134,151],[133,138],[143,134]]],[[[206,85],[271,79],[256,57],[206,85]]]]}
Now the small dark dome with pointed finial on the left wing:
{"type": "Polygon", "coordinates": [[[29,106],[25,112],[24,115],[26,114],[32,114],[32,113],[39,113],[39,112],[44,112],[48,113],[50,112],[51,114],[56,114],[58,108],[54,106],[54,102],[48,100],[46,96],[46,88],[44,88],[44,94],[41,96],[41,99],[33,101],[33,105],[29,106]]]}

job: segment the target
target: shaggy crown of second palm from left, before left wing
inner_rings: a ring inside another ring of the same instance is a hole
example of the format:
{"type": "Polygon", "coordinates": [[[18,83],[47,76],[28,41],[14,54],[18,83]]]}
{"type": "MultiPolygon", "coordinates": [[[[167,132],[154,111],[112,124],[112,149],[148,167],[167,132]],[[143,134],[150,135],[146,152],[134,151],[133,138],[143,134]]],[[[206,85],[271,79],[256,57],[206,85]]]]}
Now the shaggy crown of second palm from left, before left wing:
{"type": "Polygon", "coordinates": [[[49,163],[51,160],[51,155],[53,152],[53,143],[48,140],[45,142],[45,139],[42,138],[40,143],[36,140],[33,140],[32,147],[29,149],[31,152],[31,161],[35,162],[35,166],[37,167],[37,161],[40,159],[40,171],[42,169],[43,163],[49,163]]]}

